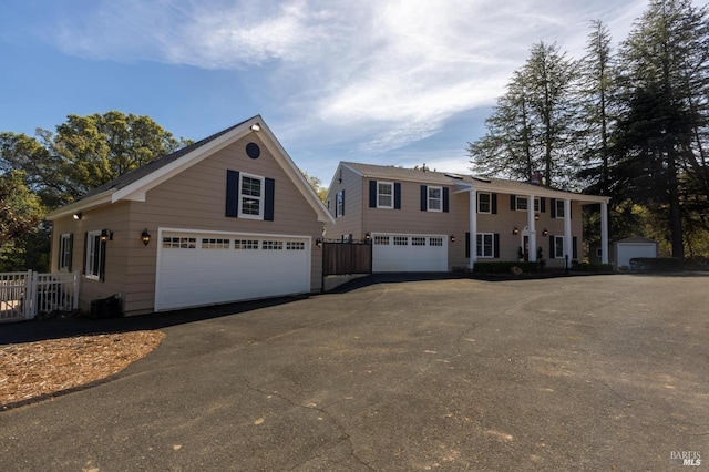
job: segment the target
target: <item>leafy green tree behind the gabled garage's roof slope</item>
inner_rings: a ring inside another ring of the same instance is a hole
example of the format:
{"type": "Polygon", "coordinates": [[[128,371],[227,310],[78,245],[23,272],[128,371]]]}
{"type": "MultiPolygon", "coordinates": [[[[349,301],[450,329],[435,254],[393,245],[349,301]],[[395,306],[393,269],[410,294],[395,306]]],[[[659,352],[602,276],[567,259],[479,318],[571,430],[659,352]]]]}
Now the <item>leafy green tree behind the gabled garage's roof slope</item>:
{"type": "Polygon", "coordinates": [[[37,138],[0,133],[0,170],[25,171],[30,188],[54,208],[186,144],[150,116],[69,115],[55,133],[38,129],[37,138]]]}

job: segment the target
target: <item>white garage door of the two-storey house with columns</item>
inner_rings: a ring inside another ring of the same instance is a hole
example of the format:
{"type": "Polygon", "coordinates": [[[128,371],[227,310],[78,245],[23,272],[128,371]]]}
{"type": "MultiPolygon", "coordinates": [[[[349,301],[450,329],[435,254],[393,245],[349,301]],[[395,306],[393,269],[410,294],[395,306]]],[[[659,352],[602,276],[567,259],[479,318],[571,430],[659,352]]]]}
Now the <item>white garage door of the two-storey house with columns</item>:
{"type": "Polygon", "coordinates": [[[448,271],[443,235],[372,234],[372,271],[448,271]]]}

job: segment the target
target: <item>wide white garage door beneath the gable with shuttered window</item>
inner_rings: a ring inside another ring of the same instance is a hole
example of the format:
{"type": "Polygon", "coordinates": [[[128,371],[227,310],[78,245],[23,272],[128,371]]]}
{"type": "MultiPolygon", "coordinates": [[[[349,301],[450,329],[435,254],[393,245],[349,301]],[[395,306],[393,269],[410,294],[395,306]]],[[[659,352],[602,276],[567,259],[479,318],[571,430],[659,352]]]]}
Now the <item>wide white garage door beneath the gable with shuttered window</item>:
{"type": "Polygon", "coordinates": [[[156,311],[308,291],[308,237],[162,232],[156,311]]]}

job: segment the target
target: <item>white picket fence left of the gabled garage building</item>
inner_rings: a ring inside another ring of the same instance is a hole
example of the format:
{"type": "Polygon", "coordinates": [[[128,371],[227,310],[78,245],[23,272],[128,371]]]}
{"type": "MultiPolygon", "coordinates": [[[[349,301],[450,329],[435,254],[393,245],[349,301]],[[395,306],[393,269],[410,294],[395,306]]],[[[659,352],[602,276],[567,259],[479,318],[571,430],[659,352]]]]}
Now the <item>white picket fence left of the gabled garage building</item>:
{"type": "Polygon", "coordinates": [[[0,273],[0,321],[32,319],[40,312],[79,308],[79,271],[0,273]]]}

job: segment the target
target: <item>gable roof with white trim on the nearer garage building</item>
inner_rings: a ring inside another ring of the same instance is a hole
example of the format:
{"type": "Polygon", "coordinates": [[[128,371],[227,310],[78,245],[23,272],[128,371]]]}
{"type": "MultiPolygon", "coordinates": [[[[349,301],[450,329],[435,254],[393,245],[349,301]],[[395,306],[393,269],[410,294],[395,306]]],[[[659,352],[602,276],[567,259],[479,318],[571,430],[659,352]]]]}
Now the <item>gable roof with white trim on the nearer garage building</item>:
{"type": "Polygon", "coordinates": [[[292,162],[286,150],[280,145],[274,133],[260,115],[243,121],[226,130],[222,130],[204,140],[185,146],[174,153],[156,158],[138,168],[127,172],[113,181],[103,184],[84,194],[75,202],[50,212],[47,219],[72,215],[102,205],[120,201],[145,202],[145,194],[151,188],[168,178],[199,163],[215,152],[235,143],[242,137],[258,133],[263,144],[268,148],[288,177],[296,185],[306,201],[318,215],[318,220],[335,223],[320,198],[302,176],[300,170],[292,162]],[[259,129],[255,129],[258,126],[259,129]]]}

